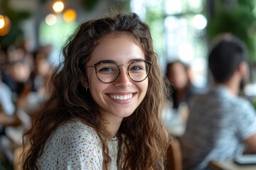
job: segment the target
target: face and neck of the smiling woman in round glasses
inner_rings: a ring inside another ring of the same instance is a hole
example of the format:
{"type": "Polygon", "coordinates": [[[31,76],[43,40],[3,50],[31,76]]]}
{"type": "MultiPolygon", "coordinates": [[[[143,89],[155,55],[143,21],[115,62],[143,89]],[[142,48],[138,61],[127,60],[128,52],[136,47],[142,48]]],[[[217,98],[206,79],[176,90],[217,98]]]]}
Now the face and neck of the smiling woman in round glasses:
{"type": "Polygon", "coordinates": [[[86,67],[87,77],[83,77],[82,86],[90,89],[92,98],[100,106],[102,115],[110,123],[112,132],[108,131],[112,136],[117,133],[123,118],[132,115],[146,95],[148,72],[146,72],[144,60],[144,51],[140,45],[137,45],[132,35],[113,33],[100,39],[86,64],[89,67],[86,67]],[[99,61],[100,64],[96,64],[97,67],[95,67],[97,71],[94,72],[90,66],[99,61]],[[129,67],[121,67],[121,65],[129,65],[129,67]],[[134,73],[134,67],[139,66],[144,68],[144,71],[134,73]],[[142,74],[142,76],[134,76],[134,74],[142,74]],[[135,81],[132,78],[137,79],[135,81]],[[127,96],[132,96],[132,98],[123,100],[127,96]]]}

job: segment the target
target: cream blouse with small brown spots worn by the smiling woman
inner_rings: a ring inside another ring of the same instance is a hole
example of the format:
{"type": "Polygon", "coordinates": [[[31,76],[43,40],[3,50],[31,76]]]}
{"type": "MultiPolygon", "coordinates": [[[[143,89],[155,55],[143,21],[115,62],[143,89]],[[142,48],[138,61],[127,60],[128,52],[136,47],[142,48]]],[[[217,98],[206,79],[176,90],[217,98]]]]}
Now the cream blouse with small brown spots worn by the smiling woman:
{"type": "MultiPolygon", "coordinates": [[[[112,162],[109,169],[117,169],[118,140],[108,143],[112,162]]],[[[102,147],[95,130],[79,120],[61,125],[46,142],[38,169],[102,169],[102,147]]]]}

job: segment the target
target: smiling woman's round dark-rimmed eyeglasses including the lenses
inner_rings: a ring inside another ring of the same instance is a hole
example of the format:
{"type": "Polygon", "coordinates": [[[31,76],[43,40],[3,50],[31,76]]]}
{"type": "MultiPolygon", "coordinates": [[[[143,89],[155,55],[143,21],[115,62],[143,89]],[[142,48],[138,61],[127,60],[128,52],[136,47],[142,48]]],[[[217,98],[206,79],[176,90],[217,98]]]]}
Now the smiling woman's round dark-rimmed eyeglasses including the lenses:
{"type": "MultiPolygon", "coordinates": [[[[129,79],[132,79],[132,81],[135,82],[141,82],[148,77],[151,62],[146,60],[134,60],[134,62],[131,62],[130,64],[122,65],[128,65],[127,75],[129,79]]],[[[109,84],[117,79],[120,73],[119,67],[122,65],[117,65],[111,60],[104,60],[87,67],[95,68],[97,78],[103,83],[109,84]]]]}

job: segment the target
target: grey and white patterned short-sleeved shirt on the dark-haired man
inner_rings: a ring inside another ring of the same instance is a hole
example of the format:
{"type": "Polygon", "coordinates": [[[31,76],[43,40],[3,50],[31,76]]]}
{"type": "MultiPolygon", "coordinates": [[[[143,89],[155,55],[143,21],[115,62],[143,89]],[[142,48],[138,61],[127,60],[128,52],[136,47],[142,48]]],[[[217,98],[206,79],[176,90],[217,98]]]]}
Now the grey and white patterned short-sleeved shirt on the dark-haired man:
{"type": "Polygon", "coordinates": [[[206,169],[210,160],[242,154],[243,140],[256,133],[256,113],[249,101],[225,86],[194,98],[181,137],[184,169],[206,169]]]}

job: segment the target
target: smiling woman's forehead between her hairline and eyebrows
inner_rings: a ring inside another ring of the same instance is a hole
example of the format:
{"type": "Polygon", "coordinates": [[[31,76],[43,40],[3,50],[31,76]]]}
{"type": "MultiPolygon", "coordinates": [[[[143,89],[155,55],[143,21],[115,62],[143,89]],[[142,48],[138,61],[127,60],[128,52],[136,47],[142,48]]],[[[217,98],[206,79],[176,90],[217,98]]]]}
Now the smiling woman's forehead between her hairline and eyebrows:
{"type": "Polygon", "coordinates": [[[101,38],[92,52],[88,63],[95,64],[100,60],[114,60],[126,64],[132,59],[145,60],[142,46],[129,33],[114,33],[101,38]]]}

